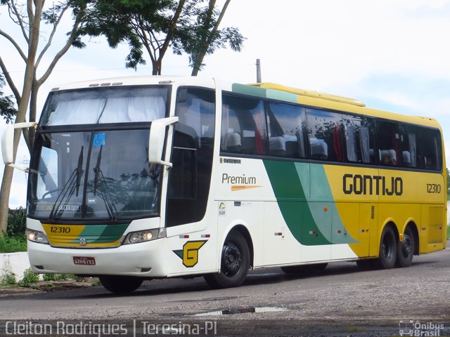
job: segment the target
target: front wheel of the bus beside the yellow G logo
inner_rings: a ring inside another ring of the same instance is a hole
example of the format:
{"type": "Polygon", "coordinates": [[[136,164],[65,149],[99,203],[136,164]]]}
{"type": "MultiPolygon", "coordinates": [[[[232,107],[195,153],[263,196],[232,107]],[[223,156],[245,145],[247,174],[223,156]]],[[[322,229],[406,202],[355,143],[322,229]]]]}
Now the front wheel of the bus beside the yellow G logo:
{"type": "Polygon", "coordinates": [[[221,252],[220,272],[205,275],[213,288],[231,288],[244,283],[250,268],[250,249],[240,232],[230,232],[221,252]]]}

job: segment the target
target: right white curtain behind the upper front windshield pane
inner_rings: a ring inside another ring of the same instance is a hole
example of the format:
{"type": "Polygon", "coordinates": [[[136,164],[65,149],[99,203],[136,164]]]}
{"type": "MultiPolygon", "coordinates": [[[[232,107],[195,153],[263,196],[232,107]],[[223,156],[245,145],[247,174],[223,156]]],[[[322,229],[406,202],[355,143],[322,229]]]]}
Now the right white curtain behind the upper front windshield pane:
{"type": "Polygon", "coordinates": [[[165,116],[165,102],[161,96],[108,98],[97,123],[153,121],[165,116]]]}

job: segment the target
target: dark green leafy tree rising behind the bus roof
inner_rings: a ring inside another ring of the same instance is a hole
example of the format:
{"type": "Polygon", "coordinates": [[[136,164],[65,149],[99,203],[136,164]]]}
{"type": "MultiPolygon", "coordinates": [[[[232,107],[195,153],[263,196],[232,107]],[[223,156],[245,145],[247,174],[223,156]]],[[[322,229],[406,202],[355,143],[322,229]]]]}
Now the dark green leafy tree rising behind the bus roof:
{"type": "Polygon", "coordinates": [[[152,62],[152,74],[162,73],[162,59],[169,48],[181,55],[190,55],[191,64],[200,65],[207,53],[213,53],[229,41],[240,51],[243,37],[236,28],[221,31],[218,26],[221,12],[215,9],[215,0],[97,0],[89,8],[87,22],[80,34],[103,35],[110,47],[122,42],[129,44],[126,66],[136,69],[146,64],[144,51],[152,62]],[[220,15],[219,15],[220,13],[220,15]],[[202,56],[203,55],[203,56],[202,56]]]}

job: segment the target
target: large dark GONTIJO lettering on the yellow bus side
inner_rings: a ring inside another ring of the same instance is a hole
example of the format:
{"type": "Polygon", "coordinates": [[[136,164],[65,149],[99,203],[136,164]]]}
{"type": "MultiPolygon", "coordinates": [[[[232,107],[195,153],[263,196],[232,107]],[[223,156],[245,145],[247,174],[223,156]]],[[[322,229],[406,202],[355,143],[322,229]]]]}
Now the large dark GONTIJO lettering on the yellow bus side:
{"type": "Polygon", "coordinates": [[[400,177],[361,176],[345,174],[342,176],[342,190],[345,194],[401,195],[403,180],[400,177]]]}

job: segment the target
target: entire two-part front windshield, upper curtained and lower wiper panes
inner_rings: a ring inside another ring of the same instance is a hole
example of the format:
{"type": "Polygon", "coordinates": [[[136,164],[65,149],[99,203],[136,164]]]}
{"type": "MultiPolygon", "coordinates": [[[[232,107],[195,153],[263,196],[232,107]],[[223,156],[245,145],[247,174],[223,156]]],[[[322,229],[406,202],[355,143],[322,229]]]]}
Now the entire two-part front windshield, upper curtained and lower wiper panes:
{"type": "Polygon", "coordinates": [[[158,215],[149,127],[167,116],[169,93],[169,86],[51,93],[30,163],[29,215],[107,222],[158,215]]]}

